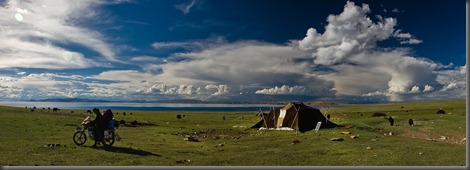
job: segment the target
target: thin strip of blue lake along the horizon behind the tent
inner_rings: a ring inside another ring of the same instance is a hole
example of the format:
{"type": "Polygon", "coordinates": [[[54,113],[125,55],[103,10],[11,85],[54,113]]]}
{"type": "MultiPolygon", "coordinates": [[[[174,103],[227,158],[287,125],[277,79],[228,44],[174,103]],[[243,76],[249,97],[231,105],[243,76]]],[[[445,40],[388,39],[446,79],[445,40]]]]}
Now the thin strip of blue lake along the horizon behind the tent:
{"type": "MultiPolygon", "coordinates": [[[[201,104],[201,103],[125,103],[125,102],[33,102],[33,101],[0,101],[2,106],[13,107],[36,107],[59,109],[91,110],[98,108],[100,110],[136,110],[136,111],[243,111],[258,112],[260,109],[268,112],[274,106],[275,108],[283,105],[269,104],[201,104]]],[[[320,109],[321,106],[312,106],[320,109]]]]}

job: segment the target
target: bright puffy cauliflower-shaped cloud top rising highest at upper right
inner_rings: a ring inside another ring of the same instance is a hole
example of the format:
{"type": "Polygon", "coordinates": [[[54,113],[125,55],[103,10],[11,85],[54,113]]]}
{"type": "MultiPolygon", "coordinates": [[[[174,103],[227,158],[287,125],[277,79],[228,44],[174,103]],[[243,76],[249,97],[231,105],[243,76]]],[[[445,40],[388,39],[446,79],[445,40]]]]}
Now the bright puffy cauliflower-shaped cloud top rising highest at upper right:
{"type": "Polygon", "coordinates": [[[374,23],[367,14],[369,5],[356,6],[348,1],[339,15],[328,16],[325,32],[309,28],[307,35],[298,41],[299,48],[312,51],[315,63],[333,65],[342,63],[347,57],[376,46],[377,41],[388,39],[397,23],[394,18],[385,18],[374,23]]]}

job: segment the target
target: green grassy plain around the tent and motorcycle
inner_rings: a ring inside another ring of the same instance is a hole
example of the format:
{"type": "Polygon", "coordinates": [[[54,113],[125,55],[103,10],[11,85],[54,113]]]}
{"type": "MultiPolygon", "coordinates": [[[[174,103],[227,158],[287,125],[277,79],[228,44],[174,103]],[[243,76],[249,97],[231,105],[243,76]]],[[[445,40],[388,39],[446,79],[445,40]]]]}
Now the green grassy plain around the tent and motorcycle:
{"type": "Polygon", "coordinates": [[[124,116],[124,111],[114,110],[119,112],[115,119],[126,121],[117,129],[122,140],[112,147],[92,148],[90,140],[83,146],[72,141],[76,128],[91,116],[83,110],[31,112],[0,106],[0,165],[466,166],[465,100],[347,105],[321,111],[344,127],[305,133],[267,131],[250,128],[260,120],[257,111],[126,111],[124,116]],[[439,108],[446,114],[436,114],[439,108]],[[373,117],[377,112],[387,116],[373,117]],[[178,114],[184,117],[177,119],[178,114]],[[395,126],[389,125],[389,116],[395,126]],[[409,118],[415,126],[408,125],[409,118]],[[133,121],[137,124],[131,126],[133,121]],[[344,131],[351,134],[341,134],[344,131]],[[185,141],[187,136],[198,141],[185,141]]]}

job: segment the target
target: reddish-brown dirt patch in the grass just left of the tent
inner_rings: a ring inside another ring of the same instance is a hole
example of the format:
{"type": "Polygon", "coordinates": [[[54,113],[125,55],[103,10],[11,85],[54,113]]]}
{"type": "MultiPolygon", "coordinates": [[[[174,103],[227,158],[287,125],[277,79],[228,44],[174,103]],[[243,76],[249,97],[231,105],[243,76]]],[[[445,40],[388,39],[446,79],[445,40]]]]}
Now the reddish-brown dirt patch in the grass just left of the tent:
{"type": "Polygon", "coordinates": [[[199,132],[179,132],[173,135],[179,135],[184,137],[196,137],[196,138],[212,138],[212,139],[238,139],[248,132],[237,131],[237,130],[202,130],[199,132]]]}

